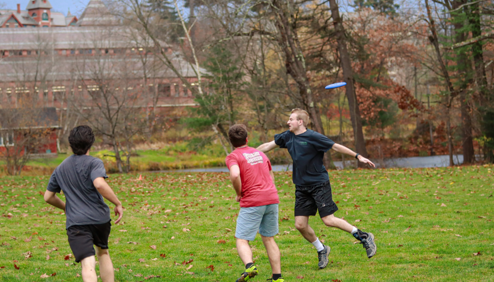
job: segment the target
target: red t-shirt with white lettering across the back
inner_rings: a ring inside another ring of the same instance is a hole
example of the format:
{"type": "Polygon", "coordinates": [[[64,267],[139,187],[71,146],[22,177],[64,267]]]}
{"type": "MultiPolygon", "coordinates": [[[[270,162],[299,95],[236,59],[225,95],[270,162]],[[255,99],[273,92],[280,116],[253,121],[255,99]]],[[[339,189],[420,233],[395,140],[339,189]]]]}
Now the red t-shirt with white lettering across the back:
{"type": "Polygon", "coordinates": [[[278,191],[269,174],[271,162],[264,153],[251,147],[237,148],[225,159],[228,169],[240,168],[242,198],[240,207],[250,208],[278,204],[278,191]]]}

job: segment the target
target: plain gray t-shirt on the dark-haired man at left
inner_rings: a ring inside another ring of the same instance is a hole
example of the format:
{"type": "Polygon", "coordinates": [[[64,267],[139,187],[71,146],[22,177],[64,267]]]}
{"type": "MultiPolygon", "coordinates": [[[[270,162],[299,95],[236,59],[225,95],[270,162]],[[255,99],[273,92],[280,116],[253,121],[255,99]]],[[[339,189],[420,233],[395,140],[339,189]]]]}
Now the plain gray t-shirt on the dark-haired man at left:
{"type": "Polygon", "coordinates": [[[65,228],[111,220],[110,208],[93,184],[98,177],[108,178],[103,161],[86,155],[72,155],[53,171],[47,190],[65,195],[65,228]]]}

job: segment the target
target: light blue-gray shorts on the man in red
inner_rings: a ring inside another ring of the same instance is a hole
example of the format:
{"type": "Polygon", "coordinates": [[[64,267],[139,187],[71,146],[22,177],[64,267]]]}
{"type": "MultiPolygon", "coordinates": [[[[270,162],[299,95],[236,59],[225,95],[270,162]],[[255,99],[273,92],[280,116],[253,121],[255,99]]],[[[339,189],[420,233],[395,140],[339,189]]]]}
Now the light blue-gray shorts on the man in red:
{"type": "Polygon", "coordinates": [[[240,208],[235,237],[252,241],[257,230],[264,237],[278,234],[278,204],[240,208]]]}

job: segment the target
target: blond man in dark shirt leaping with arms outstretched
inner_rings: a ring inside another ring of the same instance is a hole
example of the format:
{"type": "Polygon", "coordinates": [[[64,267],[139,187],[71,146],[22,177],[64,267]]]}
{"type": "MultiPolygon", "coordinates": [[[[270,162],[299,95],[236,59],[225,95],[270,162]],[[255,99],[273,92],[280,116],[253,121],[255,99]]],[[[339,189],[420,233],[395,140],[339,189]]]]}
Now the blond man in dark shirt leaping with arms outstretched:
{"type": "Polygon", "coordinates": [[[276,147],[286,148],[293,159],[293,183],[295,184],[295,227],[317,250],[320,269],[328,264],[331,248],[323,245],[309,226],[309,216],[315,216],[317,210],[322,222],[329,227],[337,227],[351,233],[364,245],[367,256],[375,255],[374,235],[363,232],[333,214],[338,207],[333,201],[329,175],[324,168],[323,157],[329,149],[355,157],[371,167],[375,165],[360,154],[345,146],[334,143],[326,136],[307,129],[309,114],[301,109],[292,110],[288,120],[289,130],[276,134],[274,141],[257,147],[268,152],[276,147]]]}

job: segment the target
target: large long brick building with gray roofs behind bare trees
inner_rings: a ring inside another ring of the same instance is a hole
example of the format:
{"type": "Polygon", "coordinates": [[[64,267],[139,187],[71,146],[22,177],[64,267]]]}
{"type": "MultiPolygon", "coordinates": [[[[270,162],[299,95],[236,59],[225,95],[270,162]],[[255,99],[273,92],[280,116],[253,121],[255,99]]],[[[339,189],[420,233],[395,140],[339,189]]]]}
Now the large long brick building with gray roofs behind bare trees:
{"type": "MultiPolygon", "coordinates": [[[[194,105],[190,90],[152,54],[154,44],[122,25],[101,0],[91,0],[80,18],[52,8],[49,0],[29,0],[26,10],[19,4],[17,10],[0,10],[0,109],[16,108],[29,96],[39,107],[61,111],[69,95],[96,89],[95,78],[81,69],[102,64],[113,75],[108,79],[118,78],[115,69],[128,69],[122,77],[133,85],[127,88],[150,97],[138,107],[173,112],[194,105]]],[[[182,54],[162,46],[193,83],[194,71],[182,54]]]]}

